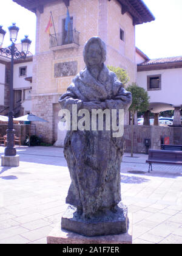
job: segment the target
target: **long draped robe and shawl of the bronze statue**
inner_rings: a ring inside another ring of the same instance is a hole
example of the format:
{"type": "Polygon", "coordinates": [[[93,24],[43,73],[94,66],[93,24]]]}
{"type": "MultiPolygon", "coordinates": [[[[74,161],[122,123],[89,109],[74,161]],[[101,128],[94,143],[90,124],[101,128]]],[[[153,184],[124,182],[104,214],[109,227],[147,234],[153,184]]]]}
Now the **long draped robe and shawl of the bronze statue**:
{"type": "MultiPolygon", "coordinates": [[[[105,65],[96,80],[83,69],[73,79],[67,92],[59,99],[61,108],[72,112],[93,108],[126,110],[132,96],[123,88],[116,75],[105,65]],[[96,102],[96,103],[95,103],[96,102]]],[[[70,130],[64,141],[64,155],[72,183],[66,198],[86,216],[115,207],[121,201],[120,165],[123,137],[113,138],[112,130],[70,130]]]]}

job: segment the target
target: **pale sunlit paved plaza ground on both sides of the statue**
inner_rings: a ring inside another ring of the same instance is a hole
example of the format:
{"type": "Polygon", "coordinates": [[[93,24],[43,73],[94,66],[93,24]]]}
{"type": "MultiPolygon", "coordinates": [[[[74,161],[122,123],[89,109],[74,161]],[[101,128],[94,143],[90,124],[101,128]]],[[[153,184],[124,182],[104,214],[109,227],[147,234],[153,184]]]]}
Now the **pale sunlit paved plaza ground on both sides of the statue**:
{"type": "MultiPolygon", "coordinates": [[[[63,149],[19,147],[19,167],[0,166],[0,244],[44,244],[61,221],[70,176],[63,149]]],[[[4,147],[0,146],[0,155],[4,147]]],[[[153,165],[125,153],[121,195],[133,243],[182,244],[182,166],[153,165]]]]}

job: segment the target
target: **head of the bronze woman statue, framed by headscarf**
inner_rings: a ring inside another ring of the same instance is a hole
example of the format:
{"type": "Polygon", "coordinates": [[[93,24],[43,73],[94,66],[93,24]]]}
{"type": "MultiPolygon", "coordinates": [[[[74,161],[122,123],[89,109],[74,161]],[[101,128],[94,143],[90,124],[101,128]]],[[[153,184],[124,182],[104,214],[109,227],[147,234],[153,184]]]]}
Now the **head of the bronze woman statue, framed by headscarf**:
{"type": "Polygon", "coordinates": [[[84,46],[83,57],[87,67],[101,65],[106,61],[106,44],[99,37],[90,38],[84,46]]]}

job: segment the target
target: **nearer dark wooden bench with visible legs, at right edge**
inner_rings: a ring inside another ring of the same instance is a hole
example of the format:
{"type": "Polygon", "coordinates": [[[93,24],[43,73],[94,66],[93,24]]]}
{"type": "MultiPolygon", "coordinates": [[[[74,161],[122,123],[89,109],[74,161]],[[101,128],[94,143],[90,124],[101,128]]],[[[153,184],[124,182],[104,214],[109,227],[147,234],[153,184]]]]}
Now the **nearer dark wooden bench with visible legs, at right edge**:
{"type": "Polygon", "coordinates": [[[152,171],[152,163],[159,165],[182,165],[182,151],[149,150],[149,172],[152,171]]]}

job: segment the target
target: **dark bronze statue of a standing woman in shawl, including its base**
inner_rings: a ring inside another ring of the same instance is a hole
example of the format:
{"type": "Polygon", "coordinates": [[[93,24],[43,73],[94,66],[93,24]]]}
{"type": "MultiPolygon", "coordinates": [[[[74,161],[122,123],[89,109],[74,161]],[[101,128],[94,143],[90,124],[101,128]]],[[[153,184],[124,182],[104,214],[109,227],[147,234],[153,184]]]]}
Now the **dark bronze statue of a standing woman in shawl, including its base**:
{"type": "MultiPolygon", "coordinates": [[[[105,43],[99,37],[90,38],[83,57],[86,68],[59,99],[61,108],[72,113],[76,104],[78,111],[86,109],[90,116],[94,109],[127,110],[132,97],[104,65],[105,43]]],[[[106,124],[106,118],[103,122],[106,124]]],[[[123,137],[113,137],[112,129],[92,130],[91,123],[90,129],[69,130],[64,141],[72,183],[66,198],[70,207],[67,216],[62,217],[62,228],[88,236],[126,232],[127,210],[118,206],[123,137]]]]}

